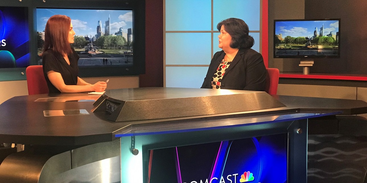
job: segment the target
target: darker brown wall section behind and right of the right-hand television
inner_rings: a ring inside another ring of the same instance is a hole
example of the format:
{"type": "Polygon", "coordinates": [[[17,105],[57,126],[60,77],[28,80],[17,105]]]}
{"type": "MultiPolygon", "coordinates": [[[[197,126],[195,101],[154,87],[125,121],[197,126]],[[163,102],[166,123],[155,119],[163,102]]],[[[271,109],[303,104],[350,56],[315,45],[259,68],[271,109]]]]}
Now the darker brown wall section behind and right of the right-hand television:
{"type": "Polygon", "coordinates": [[[340,18],[341,56],[315,59],[312,72],[367,74],[367,1],[305,0],[305,18],[340,18]]]}

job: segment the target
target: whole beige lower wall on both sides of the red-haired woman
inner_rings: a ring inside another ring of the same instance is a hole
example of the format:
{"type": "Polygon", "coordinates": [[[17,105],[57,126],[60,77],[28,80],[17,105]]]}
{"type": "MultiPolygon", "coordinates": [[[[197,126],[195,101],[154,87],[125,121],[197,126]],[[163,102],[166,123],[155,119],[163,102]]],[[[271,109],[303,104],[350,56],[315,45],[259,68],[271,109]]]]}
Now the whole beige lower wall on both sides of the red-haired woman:
{"type": "MultiPolygon", "coordinates": [[[[106,76],[83,78],[88,83],[98,81],[108,82],[108,89],[137,88],[139,87],[139,76],[106,76]]],[[[15,96],[28,95],[27,81],[1,81],[0,82],[0,104],[15,96]]]]}

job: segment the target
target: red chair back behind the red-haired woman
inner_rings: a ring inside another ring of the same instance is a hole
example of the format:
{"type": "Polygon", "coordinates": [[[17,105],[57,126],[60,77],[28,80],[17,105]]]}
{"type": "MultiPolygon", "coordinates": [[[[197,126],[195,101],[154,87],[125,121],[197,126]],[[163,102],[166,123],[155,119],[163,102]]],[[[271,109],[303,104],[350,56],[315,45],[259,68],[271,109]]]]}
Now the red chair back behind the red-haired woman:
{"type": "Polygon", "coordinates": [[[43,75],[42,66],[28,66],[25,73],[27,76],[29,95],[48,93],[47,82],[43,75]]]}

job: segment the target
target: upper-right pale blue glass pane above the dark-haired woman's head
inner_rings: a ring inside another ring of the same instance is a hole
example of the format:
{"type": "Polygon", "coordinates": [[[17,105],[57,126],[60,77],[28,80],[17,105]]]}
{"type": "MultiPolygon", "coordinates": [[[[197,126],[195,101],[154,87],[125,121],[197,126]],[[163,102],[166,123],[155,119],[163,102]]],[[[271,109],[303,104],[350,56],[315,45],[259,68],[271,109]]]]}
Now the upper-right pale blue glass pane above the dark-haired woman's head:
{"type": "Polygon", "coordinates": [[[260,30],[260,0],[213,0],[213,30],[227,18],[239,18],[250,30],[260,30]]]}

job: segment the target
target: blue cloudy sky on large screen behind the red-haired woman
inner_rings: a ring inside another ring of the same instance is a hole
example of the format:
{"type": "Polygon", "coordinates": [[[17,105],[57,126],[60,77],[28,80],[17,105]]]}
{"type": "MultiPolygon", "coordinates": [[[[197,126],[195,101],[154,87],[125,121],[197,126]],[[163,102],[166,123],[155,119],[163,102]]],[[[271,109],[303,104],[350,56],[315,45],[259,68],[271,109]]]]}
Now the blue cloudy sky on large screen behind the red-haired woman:
{"type": "Polygon", "coordinates": [[[123,32],[127,33],[128,28],[132,28],[131,10],[75,10],[75,9],[46,9],[37,8],[37,31],[45,29],[48,18],[52,15],[66,15],[72,19],[73,29],[76,36],[92,37],[97,34],[98,20],[102,22],[102,31],[105,31],[105,22],[110,16],[110,34],[115,34],[123,27],[123,32]]]}

